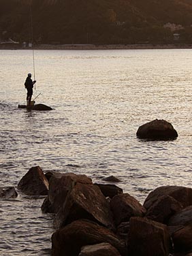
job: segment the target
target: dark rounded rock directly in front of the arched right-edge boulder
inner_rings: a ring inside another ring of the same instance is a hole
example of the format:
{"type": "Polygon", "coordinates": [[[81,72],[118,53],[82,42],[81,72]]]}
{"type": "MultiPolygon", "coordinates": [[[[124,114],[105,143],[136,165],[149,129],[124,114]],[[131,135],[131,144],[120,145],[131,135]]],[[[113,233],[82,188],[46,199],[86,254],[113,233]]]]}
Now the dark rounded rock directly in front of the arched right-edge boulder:
{"type": "Polygon", "coordinates": [[[167,223],[176,212],[182,210],[182,204],[170,195],[162,195],[157,201],[148,208],[146,217],[153,221],[167,223]]]}

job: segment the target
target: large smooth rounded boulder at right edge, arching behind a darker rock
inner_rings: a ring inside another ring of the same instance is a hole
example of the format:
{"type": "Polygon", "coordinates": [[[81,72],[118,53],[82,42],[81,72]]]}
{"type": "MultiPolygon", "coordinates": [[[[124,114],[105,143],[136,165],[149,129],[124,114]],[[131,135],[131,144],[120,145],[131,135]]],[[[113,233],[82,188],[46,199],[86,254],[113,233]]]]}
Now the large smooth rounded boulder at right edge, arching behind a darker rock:
{"type": "Polygon", "coordinates": [[[192,189],[180,186],[162,186],[150,192],[144,202],[144,208],[150,208],[162,195],[170,195],[180,202],[183,208],[192,205],[192,189]]]}

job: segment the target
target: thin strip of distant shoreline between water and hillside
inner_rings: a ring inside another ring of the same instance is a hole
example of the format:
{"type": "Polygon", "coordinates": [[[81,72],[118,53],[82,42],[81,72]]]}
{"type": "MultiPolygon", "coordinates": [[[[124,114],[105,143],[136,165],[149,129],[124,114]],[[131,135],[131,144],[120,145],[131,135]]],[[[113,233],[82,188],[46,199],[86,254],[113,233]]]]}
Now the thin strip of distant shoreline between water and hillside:
{"type": "MultiPolygon", "coordinates": [[[[34,50],[142,50],[191,49],[192,44],[35,44],[34,50]]],[[[0,44],[0,50],[30,50],[20,44],[0,44]]]]}

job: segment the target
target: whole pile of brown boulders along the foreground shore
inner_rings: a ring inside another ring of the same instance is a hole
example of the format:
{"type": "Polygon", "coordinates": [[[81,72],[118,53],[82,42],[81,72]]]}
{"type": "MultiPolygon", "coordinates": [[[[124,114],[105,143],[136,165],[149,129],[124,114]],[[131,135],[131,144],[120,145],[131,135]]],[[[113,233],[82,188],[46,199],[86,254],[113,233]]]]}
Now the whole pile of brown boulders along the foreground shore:
{"type": "Polygon", "coordinates": [[[30,195],[48,194],[42,211],[54,213],[54,256],[192,255],[191,188],[158,187],[142,205],[116,185],[73,173],[44,175],[39,167],[22,178],[18,188],[24,187],[30,195]]]}

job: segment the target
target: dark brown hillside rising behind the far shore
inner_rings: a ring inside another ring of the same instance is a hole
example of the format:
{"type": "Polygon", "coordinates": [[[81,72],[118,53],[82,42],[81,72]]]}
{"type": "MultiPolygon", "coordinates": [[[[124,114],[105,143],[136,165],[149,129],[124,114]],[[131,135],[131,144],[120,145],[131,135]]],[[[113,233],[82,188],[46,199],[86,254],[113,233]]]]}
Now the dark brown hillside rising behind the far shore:
{"type": "Polygon", "coordinates": [[[192,0],[0,0],[0,38],[42,44],[191,43],[192,0]],[[30,5],[32,3],[32,5],[30,5]],[[31,6],[31,7],[30,7],[31,6]]]}

